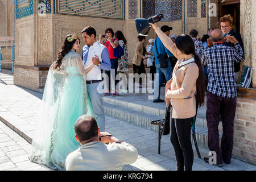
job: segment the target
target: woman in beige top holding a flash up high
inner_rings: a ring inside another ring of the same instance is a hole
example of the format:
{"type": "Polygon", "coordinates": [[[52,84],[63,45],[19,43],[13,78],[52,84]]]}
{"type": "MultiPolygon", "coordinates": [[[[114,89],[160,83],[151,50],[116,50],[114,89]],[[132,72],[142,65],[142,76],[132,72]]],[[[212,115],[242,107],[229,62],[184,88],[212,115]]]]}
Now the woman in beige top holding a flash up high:
{"type": "Polygon", "coordinates": [[[172,105],[170,139],[174,146],[177,170],[191,171],[193,166],[191,126],[195,120],[196,101],[199,106],[204,104],[203,67],[195,53],[195,44],[191,36],[179,36],[173,43],[156,24],[150,24],[164,46],[177,58],[172,78],[166,84],[166,105],[172,105]]]}

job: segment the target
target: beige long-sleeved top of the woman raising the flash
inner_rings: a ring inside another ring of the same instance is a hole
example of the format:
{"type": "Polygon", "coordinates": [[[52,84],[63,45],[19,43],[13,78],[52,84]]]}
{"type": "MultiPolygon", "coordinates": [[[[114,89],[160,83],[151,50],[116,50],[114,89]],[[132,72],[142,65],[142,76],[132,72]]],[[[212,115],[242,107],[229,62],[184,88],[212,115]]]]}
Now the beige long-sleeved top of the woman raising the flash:
{"type": "MultiPolygon", "coordinates": [[[[175,57],[175,44],[160,28],[156,28],[156,34],[162,40],[164,46],[169,49],[175,57]]],[[[172,78],[168,82],[171,90],[167,90],[166,98],[172,98],[172,118],[191,118],[196,115],[196,80],[199,76],[199,68],[196,63],[189,63],[178,67],[181,60],[177,61],[172,78]],[[172,84],[171,84],[172,82],[172,84]],[[184,99],[191,97],[189,99],[184,99]]]]}

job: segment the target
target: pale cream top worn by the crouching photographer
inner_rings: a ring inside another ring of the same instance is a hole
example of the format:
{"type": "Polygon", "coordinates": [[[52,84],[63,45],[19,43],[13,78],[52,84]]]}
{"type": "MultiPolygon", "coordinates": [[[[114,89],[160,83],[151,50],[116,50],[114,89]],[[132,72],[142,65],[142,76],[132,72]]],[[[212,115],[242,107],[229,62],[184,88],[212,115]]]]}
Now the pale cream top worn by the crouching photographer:
{"type": "Polygon", "coordinates": [[[133,164],[138,151],[129,143],[85,143],[66,159],[66,171],[121,171],[123,165],[133,164]]]}

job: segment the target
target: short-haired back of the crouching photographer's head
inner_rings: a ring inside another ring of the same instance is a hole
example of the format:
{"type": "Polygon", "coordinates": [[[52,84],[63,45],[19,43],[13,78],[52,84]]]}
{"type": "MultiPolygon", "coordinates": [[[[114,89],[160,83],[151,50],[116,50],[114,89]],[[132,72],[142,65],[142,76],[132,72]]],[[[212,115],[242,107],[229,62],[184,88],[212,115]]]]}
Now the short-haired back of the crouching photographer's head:
{"type": "Polygon", "coordinates": [[[96,119],[90,115],[81,115],[75,122],[74,129],[80,142],[98,137],[98,125],[96,119]]]}

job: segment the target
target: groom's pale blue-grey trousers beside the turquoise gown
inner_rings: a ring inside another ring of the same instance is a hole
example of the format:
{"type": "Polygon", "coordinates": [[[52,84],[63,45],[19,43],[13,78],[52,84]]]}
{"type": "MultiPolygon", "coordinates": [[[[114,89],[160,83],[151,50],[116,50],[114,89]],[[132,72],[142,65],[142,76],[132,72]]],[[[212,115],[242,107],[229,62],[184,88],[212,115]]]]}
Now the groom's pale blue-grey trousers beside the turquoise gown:
{"type": "Polygon", "coordinates": [[[100,127],[101,131],[105,131],[105,114],[103,108],[103,95],[98,93],[98,84],[100,82],[96,82],[93,84],[86,84],[88,95],[90,96],[90,101],[92,102],[93,111],[95,114],[95,119],[98,123],[98,127],[100,127]]]}

